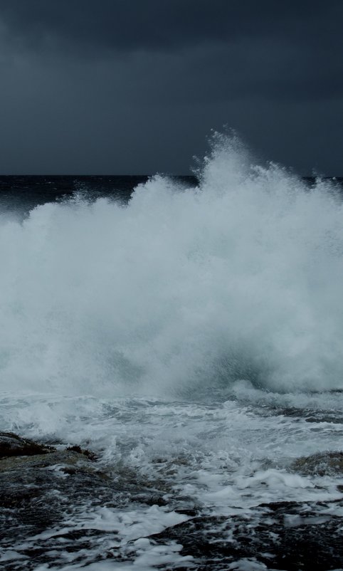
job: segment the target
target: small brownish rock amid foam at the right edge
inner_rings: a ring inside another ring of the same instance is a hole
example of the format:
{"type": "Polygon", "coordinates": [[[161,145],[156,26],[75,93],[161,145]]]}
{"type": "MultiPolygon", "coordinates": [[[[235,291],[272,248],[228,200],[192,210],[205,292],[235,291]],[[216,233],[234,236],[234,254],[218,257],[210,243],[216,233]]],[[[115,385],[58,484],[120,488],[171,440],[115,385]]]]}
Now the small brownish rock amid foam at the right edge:
{"type": "Polygon", "coordinates": [[[305,476],[337,476],[343,474],[343,452],[322,452],[303,456],[295,460],[291,467],[305,476]]]}

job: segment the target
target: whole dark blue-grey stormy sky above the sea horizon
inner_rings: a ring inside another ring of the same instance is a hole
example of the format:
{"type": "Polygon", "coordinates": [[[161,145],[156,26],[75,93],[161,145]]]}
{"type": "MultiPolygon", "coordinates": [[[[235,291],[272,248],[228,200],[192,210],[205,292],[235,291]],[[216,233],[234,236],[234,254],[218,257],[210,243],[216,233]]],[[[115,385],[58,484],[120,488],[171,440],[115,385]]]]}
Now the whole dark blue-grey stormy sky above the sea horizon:
{"type": "Polygon", "coordinates": [[[0,0],[0,173],[188,172],[236,129],[343,174],[343,1],[0,0]]]}

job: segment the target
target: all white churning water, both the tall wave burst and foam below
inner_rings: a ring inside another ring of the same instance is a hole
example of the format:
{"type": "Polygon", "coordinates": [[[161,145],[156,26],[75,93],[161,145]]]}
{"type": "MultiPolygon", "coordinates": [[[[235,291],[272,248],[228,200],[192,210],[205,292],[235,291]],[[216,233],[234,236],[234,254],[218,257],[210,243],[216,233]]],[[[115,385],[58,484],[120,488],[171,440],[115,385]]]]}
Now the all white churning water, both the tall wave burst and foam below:
{"type": "MultiPolygon", "coordinates": [[[[273,553],[204,567],[173,534],[196,514],[227,543],[224,520],[271,502],[316,505],[311,525],[343,515],[343,473],[294,468],[342,449],[341,187],[221,135],[197,174],[127,204],[81,189],[0,207],[0,429],[87,446],[164,498],[78,503],[60,529],[102,541],[32,568],[283,569],[273,553]]],[[[21,550],[19,533],[4,561],[21,550]]]]}

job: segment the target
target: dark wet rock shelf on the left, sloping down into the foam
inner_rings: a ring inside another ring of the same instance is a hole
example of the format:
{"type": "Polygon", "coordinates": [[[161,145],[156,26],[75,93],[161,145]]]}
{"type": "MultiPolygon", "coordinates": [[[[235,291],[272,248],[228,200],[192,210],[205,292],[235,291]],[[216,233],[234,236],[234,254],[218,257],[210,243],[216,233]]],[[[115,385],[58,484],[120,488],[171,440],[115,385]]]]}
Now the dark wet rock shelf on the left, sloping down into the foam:
{"type": "Polygon", "coordinates": [[[75,530],[85,513],[125,510],[135,501],[165,503],[164,490],[146,486],[124,467],[105,471],[94,454],[79,446],[57,449],[11,433],[1,433],[1,442],[0,559],[1,552],[8,555],[0,560],[1,570],[55,568],[56,558],[65,552],[75,553],[76,559],[80,552],[82,561],[93,543],[106,545],[113,536],[107,530],[83,529],[82,524],[75,530]]]}

